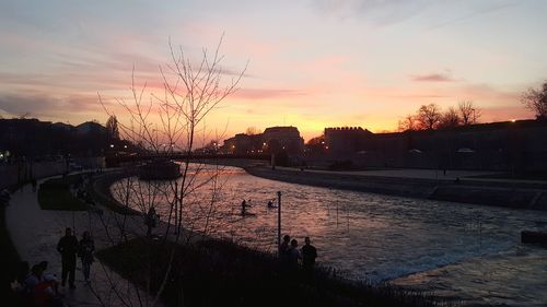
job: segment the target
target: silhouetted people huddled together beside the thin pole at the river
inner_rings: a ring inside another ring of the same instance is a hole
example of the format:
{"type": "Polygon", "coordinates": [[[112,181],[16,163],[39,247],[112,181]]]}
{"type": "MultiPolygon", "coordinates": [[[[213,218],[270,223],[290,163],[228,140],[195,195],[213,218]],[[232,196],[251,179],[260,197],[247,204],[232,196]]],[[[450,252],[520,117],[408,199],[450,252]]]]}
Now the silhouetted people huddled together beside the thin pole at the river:
{"type": "Polygon", "coordinates": [[[291,240],[289,235],[284,235],[283,241],[279,245],[279,258],[289,268],[296,269],[301,263],[305,272],[313,273],[317,249],[311,244],[310,237],[304,238],[304,246],[299,249],[299,241],[294,238],[291,240]]]}

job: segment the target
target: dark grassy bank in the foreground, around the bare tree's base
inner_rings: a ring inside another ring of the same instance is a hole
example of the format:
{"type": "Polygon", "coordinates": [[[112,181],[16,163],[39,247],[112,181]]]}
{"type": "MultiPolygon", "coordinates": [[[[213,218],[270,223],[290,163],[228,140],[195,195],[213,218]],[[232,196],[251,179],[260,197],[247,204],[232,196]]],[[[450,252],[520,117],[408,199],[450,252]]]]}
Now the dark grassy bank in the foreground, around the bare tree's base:
{"type": "MultiPolygon", "coordinates": [[[[96,256],[124,278],[156,292],[172,244],[135,239],[96,256]],[[153,263],[153,264],[150,264],[153,263]]],[[[162,299],[166,306],[450,306],[388,284],[345,280],[317,268],[314,278],[277,258],[228,241],[177,246],[162,299]]]]}

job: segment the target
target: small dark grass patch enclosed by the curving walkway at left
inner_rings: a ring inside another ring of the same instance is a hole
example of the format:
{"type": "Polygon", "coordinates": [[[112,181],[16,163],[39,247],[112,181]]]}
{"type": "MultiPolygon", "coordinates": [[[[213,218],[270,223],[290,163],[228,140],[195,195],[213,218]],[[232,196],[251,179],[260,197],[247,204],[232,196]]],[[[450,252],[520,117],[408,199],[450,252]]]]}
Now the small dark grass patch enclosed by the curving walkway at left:
{"type": "Polygon", "coordinates": [[[38,189],[38,203],[42,210],[84,211],[88,206],[70,191],[79,175],[55,178],[43,182],[38,189]]]}

